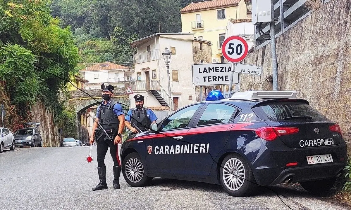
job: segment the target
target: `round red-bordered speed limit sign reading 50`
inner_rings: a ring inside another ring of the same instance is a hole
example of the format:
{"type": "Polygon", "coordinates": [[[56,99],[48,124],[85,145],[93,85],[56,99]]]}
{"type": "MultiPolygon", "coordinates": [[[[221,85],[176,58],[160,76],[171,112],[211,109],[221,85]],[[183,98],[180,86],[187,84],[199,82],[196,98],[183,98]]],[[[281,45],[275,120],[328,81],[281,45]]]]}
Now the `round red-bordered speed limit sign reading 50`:
{"type": "Polygon", "coordinates": [[[230,36],[222,44],[223,57],[233,63],[238,63],[245,59],[249,52],[249,45],[241,36],[230,36]]]}

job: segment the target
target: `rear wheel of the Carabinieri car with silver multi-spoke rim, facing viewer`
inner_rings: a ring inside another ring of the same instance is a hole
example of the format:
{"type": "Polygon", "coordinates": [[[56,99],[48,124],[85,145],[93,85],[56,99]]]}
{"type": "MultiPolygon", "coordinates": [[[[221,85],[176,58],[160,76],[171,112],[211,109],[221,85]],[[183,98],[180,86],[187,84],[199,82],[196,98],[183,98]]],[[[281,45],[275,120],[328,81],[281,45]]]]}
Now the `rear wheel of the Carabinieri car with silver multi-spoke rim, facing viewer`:
{"type": "Polygon", "coordinates": [[[221,186],[230,196],[245,197],[256,192],[257,184],[252,169],[238,154],[229,154],[224,158],[218,175],[221,186]]]}

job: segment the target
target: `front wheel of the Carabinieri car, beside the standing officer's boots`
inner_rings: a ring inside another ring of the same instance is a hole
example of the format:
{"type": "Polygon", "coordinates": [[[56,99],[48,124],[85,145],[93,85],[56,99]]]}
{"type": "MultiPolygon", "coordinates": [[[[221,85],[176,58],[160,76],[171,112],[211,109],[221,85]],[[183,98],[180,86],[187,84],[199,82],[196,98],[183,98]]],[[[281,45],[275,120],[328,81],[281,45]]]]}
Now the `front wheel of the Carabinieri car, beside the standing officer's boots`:
{"type": "Polygon", "coordinates": [[[128,154],[122,163],[122,174],[132,187],[144,187],[151,183],[152,177],[145,174],[145,168],[138,153],[128,154]]]}

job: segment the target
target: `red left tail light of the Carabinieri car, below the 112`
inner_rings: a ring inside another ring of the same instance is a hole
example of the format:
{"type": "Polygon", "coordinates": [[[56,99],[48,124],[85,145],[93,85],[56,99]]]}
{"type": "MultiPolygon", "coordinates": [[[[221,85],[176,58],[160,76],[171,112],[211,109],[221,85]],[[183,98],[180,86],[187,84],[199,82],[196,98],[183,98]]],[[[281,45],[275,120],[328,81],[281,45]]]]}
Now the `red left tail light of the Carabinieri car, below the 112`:
{"type": "Polygon", "coordinates": [[[256,130],[256,134],[266,141],[273,141],[279,136],[294,134],[299,132],[299,128],[292,127],[262,127],[256,130]]]}

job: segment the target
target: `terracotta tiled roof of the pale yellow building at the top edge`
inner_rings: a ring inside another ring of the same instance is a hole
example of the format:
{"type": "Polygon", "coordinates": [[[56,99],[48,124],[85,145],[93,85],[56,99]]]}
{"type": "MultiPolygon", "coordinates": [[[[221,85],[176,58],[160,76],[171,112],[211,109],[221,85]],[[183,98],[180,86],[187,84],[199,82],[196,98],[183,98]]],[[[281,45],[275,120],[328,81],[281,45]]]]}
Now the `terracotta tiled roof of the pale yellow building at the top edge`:
{"type": "Polygon", "coordinates": [[[204,2],[198,2],[198,3],[190,3],[188,6],[181,9],[180,12],[189,12],[189,11],[198,10],[198,9],[208,9],[213,7],[237,5],[239,2],[240,0],[212,0],[212,1],[204,1],[204,2]]]}

